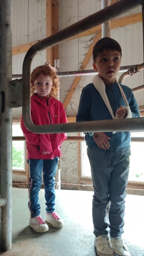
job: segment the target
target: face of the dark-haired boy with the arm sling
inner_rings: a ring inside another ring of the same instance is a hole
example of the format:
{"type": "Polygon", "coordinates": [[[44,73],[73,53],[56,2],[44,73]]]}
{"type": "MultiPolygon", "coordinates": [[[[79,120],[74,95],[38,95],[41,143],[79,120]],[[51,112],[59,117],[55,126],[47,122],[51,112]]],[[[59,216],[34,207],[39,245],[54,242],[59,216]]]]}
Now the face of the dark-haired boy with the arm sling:
{"type": "Polygon", "coordinates": [[[121,55],[117,50],[103,50],[98,54],[96,63],[93,63],[94,70],[97,71],[106,85],[111,85],[116,81],[116,75],[120,70],[121,55]]]}

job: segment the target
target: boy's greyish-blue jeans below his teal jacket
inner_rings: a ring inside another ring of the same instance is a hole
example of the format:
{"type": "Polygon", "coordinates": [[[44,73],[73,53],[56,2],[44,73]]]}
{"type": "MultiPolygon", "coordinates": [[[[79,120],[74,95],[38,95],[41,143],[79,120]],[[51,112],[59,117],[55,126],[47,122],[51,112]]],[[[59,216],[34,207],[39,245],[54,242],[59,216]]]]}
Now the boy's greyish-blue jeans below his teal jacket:
{"type": "Polygon", "coordinates": [[[131,150],[109,151],[88,146],[94,186],[92,214],[94,234],[121,237],[124,226],[126,186],[128,183],[131,150]],[[106,221],[108,202],[109,223],[106,221]]]}

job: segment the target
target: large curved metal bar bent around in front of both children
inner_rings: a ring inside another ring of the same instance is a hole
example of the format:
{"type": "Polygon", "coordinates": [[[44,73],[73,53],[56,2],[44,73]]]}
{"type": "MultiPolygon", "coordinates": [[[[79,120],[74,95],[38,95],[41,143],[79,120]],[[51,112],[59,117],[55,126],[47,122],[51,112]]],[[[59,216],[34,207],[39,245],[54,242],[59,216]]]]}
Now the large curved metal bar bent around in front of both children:
{"type": "Polygon", "coordinates": [[[30,117],[30,73],[31,63],[36,53],[40,50],[57,45],[70,37],[78,35],[99,24],[105,23],[112,18],[136,8],[142,4],[142,0],[120,0],[107,8],[96,12],[83,20],[62,29],[58,33],[43,39],[33,45],[25,55],[23,63],[23,119],[25,126],[33,133],[70,133],[70,132],[92,132],[92,131],[142,131],[144,129],[144,118],[135,122],[129,120],[107,120],[67,124],[35,125],[30,117]],[[122,121],[122,122],[121,122],[122,121]]]}

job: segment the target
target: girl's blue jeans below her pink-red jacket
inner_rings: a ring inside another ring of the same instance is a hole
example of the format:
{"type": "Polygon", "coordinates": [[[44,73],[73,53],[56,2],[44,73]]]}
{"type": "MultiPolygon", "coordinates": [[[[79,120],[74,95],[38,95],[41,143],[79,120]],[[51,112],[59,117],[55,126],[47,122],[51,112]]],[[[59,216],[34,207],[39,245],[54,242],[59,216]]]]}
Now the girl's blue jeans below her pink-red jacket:
{"type": "Polygon", "coordinates": [[[55,211],[55,175],[58,166],[58,157],[54,159],[27,159],[29,164],[29,202],[31,217],[40,215],[40,204],[38,201],[38,192],[41,188],[42,171],[45,187],[46,211],[52,213],[55,211]]]}

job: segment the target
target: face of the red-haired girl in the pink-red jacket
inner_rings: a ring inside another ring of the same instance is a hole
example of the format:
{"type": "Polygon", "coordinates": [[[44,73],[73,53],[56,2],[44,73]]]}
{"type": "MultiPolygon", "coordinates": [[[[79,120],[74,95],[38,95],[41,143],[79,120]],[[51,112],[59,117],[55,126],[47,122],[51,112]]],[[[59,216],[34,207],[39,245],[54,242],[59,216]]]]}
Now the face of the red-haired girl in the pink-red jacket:
{"type": "Polygon", "coordinates": [[[41,73],[35,80],[34,85],[38,96],[43,98],[48,96],[50,93],[53,81],[49,75],[41,73]]]}

